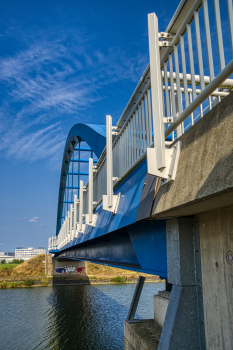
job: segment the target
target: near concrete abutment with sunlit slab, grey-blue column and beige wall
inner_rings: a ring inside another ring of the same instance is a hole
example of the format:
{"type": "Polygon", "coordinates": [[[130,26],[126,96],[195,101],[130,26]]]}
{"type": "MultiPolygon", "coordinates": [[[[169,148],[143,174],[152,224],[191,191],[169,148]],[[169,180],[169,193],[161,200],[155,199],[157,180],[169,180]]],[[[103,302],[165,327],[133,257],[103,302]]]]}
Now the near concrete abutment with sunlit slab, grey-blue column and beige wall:
{"type": "Polygon", "coordinates": [[[173,287],[169,301],[154,297],[159,343],[145,347],[141,338],[150,346],[149,333],[144,337],[137,324],[128,324],[127,350],[233,348],[232,96],[182,135],[176,179],[155,194],[151,218],[167,219],[173,287]]]}

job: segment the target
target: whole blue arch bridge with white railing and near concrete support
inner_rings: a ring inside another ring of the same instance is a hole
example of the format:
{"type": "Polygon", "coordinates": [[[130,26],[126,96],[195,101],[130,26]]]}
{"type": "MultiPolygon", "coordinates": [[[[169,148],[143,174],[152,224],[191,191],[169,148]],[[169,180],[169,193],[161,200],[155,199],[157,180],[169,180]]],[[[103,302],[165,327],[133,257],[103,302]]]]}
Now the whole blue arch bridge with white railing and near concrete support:
{"type": "Polygon", "coordinates": [[[203,213],[233,204],[232,1],[182,0],[165,32],[149,14],[148,34],[149,64],[116,126],[107,115],[106,125],[79,123],[67,136],[49,252],[167,279],[159,349],[232,349],[232,326],[219,331],[232,312],[213,313],[208,254],[233,258],[201,231],[203,213]]]}

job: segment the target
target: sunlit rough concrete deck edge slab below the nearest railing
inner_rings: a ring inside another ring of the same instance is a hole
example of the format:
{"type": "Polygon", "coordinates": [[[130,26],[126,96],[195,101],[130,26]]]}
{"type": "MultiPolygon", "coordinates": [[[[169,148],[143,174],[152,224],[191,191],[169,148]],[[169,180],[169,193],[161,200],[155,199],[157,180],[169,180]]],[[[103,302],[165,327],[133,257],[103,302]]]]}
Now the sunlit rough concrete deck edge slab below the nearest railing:
{"type": "Polygon", "coordinates": [[[233,95],[181,137],[175,181],[157,191],[152,216],[195,215],[233,205],[233,95]]]}

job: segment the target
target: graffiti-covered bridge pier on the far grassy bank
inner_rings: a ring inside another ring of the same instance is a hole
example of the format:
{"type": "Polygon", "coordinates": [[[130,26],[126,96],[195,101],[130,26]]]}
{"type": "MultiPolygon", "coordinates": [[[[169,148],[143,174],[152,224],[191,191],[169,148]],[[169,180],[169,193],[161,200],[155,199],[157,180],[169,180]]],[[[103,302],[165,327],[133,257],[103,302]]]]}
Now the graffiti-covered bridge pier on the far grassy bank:
{"type": "Polygon", "coordinates": [[[53,285],[89,283],[87,263],[53,257],[53,285]]]}

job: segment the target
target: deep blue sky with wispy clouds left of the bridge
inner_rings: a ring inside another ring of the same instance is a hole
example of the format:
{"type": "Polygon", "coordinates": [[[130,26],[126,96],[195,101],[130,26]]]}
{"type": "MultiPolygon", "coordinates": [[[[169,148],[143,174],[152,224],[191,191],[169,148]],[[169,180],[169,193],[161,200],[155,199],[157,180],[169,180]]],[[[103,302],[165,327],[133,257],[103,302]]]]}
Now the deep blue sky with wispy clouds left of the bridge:
{"type": "Polygon", "coordinates": [[[55,234],[63,147],[80,121],[116,122],[149,61],[147,14],[179,1],[0,4],[0,251],[55,234]]]}

